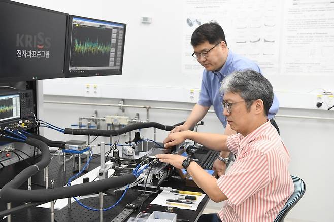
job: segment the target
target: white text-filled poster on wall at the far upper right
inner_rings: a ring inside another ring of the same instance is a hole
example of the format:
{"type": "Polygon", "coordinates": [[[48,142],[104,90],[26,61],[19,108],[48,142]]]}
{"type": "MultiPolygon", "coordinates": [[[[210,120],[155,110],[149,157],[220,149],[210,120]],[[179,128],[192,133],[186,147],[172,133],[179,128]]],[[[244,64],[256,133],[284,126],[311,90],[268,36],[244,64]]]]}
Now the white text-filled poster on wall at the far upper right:
{"type": "Polygon", "coordinates": [[[286,0],[282,73],[332,75],[334,2],[286,0]]]}

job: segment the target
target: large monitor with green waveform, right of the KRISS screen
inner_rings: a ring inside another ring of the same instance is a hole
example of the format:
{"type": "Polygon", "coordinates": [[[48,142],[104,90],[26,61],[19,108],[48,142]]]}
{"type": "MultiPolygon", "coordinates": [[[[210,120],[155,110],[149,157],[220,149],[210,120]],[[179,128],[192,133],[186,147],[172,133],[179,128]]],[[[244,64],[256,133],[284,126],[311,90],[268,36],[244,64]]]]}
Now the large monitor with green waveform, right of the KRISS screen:
{"type": "Polygon", "coordinates": [[[120,75],[126,24],[70,15],[65,77],[120,75]]]}

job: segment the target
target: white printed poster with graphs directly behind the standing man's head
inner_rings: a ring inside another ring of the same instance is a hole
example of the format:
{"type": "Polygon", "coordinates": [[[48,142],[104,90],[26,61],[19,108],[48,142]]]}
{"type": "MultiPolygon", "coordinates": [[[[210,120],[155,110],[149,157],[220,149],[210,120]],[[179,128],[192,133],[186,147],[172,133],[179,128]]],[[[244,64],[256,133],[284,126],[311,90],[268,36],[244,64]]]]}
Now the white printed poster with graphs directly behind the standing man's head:
{"type": "Polygon", "coordinates": [[[191,54],[191,34],[201,24],[217,21],[223,28],[228,48],[255,61],[265,74],[278,73],[281,1],[271,0],[185,0],[182,35],[182,72],[202,73],[191,54]]]}

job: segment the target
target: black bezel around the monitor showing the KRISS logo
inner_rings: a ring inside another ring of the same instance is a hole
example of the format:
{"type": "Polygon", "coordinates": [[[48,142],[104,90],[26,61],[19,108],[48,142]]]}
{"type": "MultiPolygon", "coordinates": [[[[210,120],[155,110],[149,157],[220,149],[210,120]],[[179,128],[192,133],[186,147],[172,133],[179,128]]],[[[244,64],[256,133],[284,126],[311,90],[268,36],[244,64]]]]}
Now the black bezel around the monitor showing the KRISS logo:
{"type": "Polygon", "coordinates": [[[31,81],[31,80],[44,80],[44,79],[54,79],[54,78],[64,78],[65,77],[65,68],[66,68],[66,52],[67,49],[66,47],[68,46],[67,44],[67,40],[68,40],[68,24],[69,24],[69,14],[68,13],[64,13],[64,12],[59,12],[59,11],[55,11],[55,10],[50,10],[50,9],[46,9],[46,8],[42,8],[42,7],[37,7],[37,6],[32,6],[32,5],[28,5],[28,4],[24,4],[24,3],[19,3],[19,2],[14,2],[14,1],[9,1],[9,0],[0,0],[0,2],[3,3],[8,3],[8,4],[13,4],[13,5],[18,5],[18,6],[23,6],[23,7],[27,7],[27,8],[32,8],[32,9],[37,9],[37,10],[42,10],[42,11],[46,11],[46,12],[50,12],[50,13],[55,13],[55,14],[59,14],[59,15],[64,15],[66,16],[66,34],[65,34],[65,52],[64,52],[64,67],[63,67],[63,72],[62,73],[53,73],[50,75],[45,75],[42,73],[37,73],[36,75],[27,75],[27,74],[22,74],[20,76],[15,76],[15,77],[2,77],[2,73],[0,73],[0,82],[15,82],[15,81],[31,81]]]}

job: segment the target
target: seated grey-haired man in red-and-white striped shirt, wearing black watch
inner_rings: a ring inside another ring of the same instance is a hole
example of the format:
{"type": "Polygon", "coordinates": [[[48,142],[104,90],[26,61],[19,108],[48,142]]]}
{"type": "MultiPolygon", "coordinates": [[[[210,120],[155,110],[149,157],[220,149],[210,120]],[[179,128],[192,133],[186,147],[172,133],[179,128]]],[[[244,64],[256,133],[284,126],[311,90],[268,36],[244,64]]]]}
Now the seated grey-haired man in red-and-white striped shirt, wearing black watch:
{"type": "MultiPolygon", "coordinates": [[[[175,154],[156,155],[161,162],[184,168],[197,186],[213,201],[224,200],[211,221],[274,221],[294,191],[288,171],[290,155],[277,130],[267,119],[273,87],[261,74],[246,70],[224,78],[224,115],[237,134],[182,131],[171,133],[164,146],[191,139],[217,151],[231,151],[236,161],[219,179],[206,173],[191,159],[175,154]]],[[[199,221],[209,221],[204,215],[199,221]]]]}

